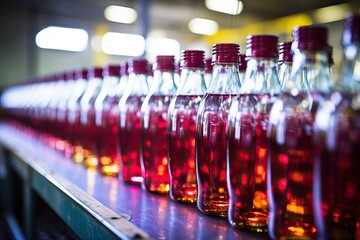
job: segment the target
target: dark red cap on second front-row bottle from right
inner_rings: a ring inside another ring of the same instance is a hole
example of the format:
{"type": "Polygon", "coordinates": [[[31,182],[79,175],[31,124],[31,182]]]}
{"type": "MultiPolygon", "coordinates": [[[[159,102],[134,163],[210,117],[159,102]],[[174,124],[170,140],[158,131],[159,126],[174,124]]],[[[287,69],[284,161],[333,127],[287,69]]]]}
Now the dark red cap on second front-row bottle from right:
{"type": "Polygon", "coordinates": [[[294,51],[327,51],[328,29],[320,25],[295,27],[293,29],[293,43],[291,49],[294,51]]]}

